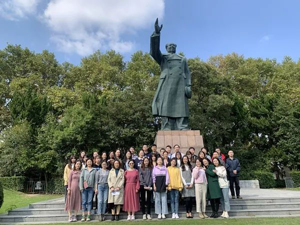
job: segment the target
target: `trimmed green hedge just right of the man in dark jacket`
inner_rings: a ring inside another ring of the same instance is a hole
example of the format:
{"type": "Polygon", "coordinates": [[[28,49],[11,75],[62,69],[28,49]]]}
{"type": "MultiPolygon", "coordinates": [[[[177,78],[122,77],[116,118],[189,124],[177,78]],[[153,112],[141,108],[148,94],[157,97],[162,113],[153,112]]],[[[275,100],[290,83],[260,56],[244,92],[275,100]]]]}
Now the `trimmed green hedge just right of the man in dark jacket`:
{"type": "Polygon", "coordinates": [[[258,179],[260,188],[275,187],[273,173],[266,171],[243,171],[240,173],[240,180],[258,179]]]}

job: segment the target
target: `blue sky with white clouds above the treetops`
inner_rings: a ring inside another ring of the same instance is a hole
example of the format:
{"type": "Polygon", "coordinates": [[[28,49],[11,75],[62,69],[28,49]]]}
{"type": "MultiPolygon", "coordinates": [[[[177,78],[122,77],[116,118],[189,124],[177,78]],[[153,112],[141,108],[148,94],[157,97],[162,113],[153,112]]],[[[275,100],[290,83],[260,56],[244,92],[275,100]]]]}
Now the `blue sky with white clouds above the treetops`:
{"type": "Polygon", "coordinates": [[[245,57],[300,57],[297,0],[1,0],[0,48],[48,49],[59,62],[79,64],[96,49],[129,60],[149,51],[159,17],[161,50],[172,41],[186,57],[237,52],[245,57]],[[76,2],[76,3],[74,3],[76,2]]]}

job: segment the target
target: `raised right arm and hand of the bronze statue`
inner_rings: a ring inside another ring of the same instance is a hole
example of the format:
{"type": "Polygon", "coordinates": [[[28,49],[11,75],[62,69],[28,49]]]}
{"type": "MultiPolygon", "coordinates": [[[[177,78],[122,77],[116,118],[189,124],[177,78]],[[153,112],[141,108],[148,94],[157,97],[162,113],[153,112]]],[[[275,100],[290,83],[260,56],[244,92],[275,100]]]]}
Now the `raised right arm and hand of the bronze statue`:
{"type": "Polygon", "coordinates": [[[154,23],[154,32],[150,37],[150,55],[155,59],[155,61],[160,65],[161,63],[161,52],[159,49],[160,42],[160,30],[162,28],[162,24],[158,25],[158,18],[156,18],[154,23]]]}

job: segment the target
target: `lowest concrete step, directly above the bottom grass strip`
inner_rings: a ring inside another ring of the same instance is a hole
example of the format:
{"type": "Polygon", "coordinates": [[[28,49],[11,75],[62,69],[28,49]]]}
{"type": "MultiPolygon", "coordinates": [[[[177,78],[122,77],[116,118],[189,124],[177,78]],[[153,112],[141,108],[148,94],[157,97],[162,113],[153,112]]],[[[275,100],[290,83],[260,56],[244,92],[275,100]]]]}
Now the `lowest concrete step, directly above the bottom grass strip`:
{"type": "MultiPolygon", "coordinates": [[[[207,215],[211,213],[210,210],[206,211],[207,215]]],[[[300,214],[300,208],[274,208],[274,209],[232,209],[229,212],[230,216],[279,216],[279,215],[292,215],[292,214],[300,214]]],[[[185,211],[180,211],[178,213],[179,217],[185,217],[185,211]]],[[[195,217],[197,217],[197,213],[193,213],[195,217]]],[[[153,218],[156,218],[156,214],[151,213],[153,218]]],[[[92,219],[97,219],[97,215],[92,215],[92,219]]],[[[142,214],[140,212],[136,212],[136,218],[141,218],[142,214]]],[[[171,214],[166,215],[167,218],[171,217],[171,214]]],[[[80,215],[77,216],[79,220],[81,218],[80,215]]],[[[110,214],[106,215],[106,218],[110,218],[110,214]]],[[[127,213],[120,213],[120,219],[126,219],[127,213]]],[[[0,215],[0,222],[42,222],[42,221],[66,221],[68,219],[67,214],[35,214],[35,215],[0,215]]]]}

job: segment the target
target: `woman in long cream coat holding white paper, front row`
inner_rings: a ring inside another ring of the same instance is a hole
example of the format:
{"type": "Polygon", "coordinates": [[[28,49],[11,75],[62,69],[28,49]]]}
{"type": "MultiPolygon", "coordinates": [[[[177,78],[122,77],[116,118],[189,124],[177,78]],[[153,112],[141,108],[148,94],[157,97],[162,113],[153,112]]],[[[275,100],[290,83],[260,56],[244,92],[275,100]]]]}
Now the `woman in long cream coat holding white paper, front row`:
{"type": "Polygon", "coordinates": [[[124,170],[120,168],[120,161],[114,160],[113,168],[109,171],[107,183],[109,186],[108,203],[111,204],[111,221],[119,220],[121,204],[124,195],[124,170]]]}

